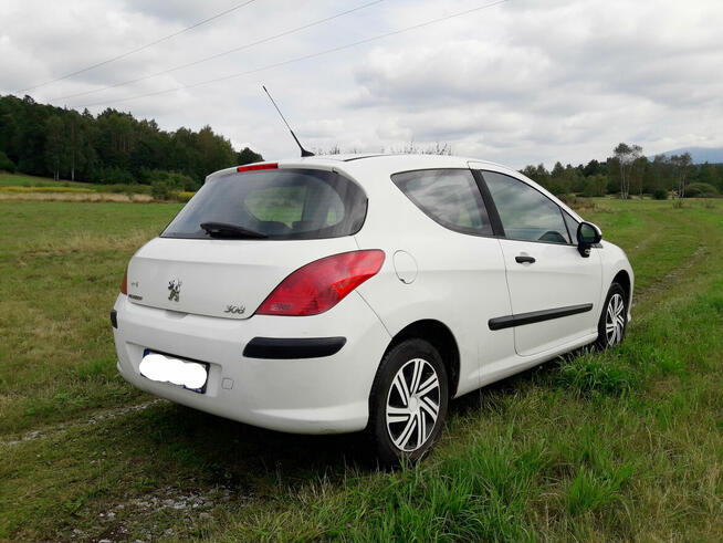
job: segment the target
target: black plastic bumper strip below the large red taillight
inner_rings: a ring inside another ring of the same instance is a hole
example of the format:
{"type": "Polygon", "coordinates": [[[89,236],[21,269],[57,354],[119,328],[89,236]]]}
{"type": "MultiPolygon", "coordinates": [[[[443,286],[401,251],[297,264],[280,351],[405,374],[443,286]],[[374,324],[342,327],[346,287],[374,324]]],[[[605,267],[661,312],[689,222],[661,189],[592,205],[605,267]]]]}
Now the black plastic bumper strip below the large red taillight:
{"type": "Polygon", "coordinates": [[[346,337],[254,337],[243,348],[247,358],[321,358],[338,353],[346,337]]]}

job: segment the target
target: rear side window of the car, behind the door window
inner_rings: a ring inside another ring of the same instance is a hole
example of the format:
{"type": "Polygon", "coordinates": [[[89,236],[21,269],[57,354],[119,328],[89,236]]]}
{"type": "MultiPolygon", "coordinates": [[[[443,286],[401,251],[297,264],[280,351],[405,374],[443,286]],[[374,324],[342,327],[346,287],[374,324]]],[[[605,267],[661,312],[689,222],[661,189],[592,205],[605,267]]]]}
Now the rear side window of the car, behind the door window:
{"type": "Polygon", "coordinates": [[[444,228],[492,236],[480,189],[469,169],[426,169],[391,176],[419,209],[444,228]]]}

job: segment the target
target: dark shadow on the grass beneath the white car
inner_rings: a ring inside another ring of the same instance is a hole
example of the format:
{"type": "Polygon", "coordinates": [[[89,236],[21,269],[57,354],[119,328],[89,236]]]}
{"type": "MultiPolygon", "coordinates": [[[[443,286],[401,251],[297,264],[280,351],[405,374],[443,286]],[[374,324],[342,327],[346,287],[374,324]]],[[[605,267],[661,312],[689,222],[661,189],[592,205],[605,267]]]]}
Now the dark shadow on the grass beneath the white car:
{"type": "MultiPolygon", "coordinates": [[[[577,352],[576,352],[577,353],[577,352]]],[[[449,417],[489,415],[495,397],[534,385],[556,386],[551,375],[572,353],[472,391],[450,403],[449,417]]],[[[319,480],[343,480],[349,471],[379,469],[365,432],[294,435],[235,422],[171,403],[159,403],[129,421],[138,452],[164,470],[203,485],[253,491],[262,483],[282,488],[319,480]]]]}

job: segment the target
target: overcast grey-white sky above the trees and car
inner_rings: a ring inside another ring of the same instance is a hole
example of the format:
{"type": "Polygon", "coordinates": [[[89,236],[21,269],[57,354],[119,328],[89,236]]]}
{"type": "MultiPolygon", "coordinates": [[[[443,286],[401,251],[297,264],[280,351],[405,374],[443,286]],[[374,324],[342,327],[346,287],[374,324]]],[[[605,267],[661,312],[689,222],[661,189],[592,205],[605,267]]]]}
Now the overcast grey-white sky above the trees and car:
{"type": "MultiPolygon", "coordinates": [[[[449,144],[522,167],[605,158],[621,140],[652,155],[723,146],[723,1],[509,0],[418,30],[256,73],[494,0],[383,0],[306,30],[111,90],[374,0],[255,0],[196,29],[28,93],[92,113],[209,124],[265,158],[297,149],[261,84],[310,148],[449,144]],[[136,100],[129,97],[156,93],[136,100]]],[[[2,0],[0,93],[143,46],[240,0],[2,0]]]]}

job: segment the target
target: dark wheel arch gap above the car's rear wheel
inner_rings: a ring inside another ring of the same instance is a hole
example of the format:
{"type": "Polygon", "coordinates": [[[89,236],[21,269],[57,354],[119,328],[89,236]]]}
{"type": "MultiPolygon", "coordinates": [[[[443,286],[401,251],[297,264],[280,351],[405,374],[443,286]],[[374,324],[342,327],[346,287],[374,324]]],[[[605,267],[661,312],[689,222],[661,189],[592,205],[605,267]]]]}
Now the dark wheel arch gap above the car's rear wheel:
{"type": "Polygon", "coordinates": [[[453,398],[460,380],[460,351],[452,331],[434,319],[415,321],[395,334],[387,345],[385,356],[396,345],[411,338],[425,340],[439,352],[449,379],[449,397],[453,398]]]}

